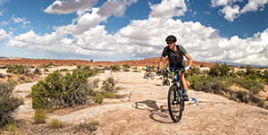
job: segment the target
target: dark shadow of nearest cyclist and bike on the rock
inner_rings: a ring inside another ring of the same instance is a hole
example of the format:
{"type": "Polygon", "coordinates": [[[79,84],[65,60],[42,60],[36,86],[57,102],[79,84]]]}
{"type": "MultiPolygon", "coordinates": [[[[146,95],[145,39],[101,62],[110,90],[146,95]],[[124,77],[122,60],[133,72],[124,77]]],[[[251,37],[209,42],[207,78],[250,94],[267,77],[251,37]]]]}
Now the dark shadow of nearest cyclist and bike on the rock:
{"type": "Polygon", "coordinates": [[[135,102],[136,109],[148,110],[150,112],[149,118],[155,122],[162,123],[174,123],[169,115],[169,110],[167,105],[158,106],[155,100],[145,100],[135,102]]]}

